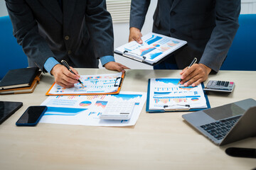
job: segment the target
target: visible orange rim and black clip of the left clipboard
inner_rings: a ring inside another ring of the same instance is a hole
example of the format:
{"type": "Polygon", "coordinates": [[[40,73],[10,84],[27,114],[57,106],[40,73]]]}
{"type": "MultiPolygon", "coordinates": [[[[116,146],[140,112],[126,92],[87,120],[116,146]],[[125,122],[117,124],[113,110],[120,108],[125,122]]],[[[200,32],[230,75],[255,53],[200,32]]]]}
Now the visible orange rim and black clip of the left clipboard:
{"type": "MultiPolygon", "coordinates": [[[[98,77],[100,74],[96,74],[94,75],[95,77],[98,77]]],[[[102,75],[110,75],[110,74],[102,74],[102,75]]],[[[85,75],[87,76],[87,75],[85,75]]],[[[122,87],[122,82],[124,81],[124,73],[122,72],[121,77],[117,77],[115,78],[115,80],[113,81],[114,83],[114,87],[117,87],[116,91],[112,91],[112,92],[93,92],[93,93],[68,93],[68,94],[55,94],[55,93],[51,93],[50,91],[53,91],[53,89],[55,88],[55,86],[58,86],[58,84],[55,84],[55,82],[53,83],[52,86],[50,86],[50,89],[48,89],[48,91],[46,92],[47,96],[80,96],[80,95],[106,95],[106,94],[119,94],[121,87],[122,87]]],[[[60,86],[60,88],[63,88],[60,86]]],[[[86,87],[85,87],[86,88],[86,87]]],[[[63,88],[65,89],[65,88],[63,88]]]]}

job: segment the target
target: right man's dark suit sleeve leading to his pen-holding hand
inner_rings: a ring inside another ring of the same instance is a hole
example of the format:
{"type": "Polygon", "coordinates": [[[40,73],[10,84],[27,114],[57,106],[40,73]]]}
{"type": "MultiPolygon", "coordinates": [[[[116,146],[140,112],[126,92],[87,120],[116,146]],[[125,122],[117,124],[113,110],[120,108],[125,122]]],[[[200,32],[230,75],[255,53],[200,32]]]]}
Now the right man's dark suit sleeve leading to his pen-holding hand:
{"type": "Polygon", "coordinates": [[[238,30],[240,0],[217,0],[215,11],[215,28],[203,52],[200,63],[218,72],[228,54],[235,33],[238,30]]]}

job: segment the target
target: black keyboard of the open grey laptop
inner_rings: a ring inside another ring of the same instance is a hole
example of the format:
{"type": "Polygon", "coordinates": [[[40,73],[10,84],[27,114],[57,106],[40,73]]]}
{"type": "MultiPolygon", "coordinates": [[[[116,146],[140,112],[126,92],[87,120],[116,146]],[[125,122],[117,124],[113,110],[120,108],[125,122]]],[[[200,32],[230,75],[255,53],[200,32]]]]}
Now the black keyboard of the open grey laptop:
{"type": "Polygon", "coordinates": [[[210,135],[215,137],[217,140],[222,140],[225,135],[228,134],[230,129],[235,125],[235,123],[238,122],[238,119],[242,115],[235,116],[233,118],[218,120],[214,123],[208,123],[206,125],[201,125],[200,127],[203,128],[203,130],[206,130],[210,135]]]}

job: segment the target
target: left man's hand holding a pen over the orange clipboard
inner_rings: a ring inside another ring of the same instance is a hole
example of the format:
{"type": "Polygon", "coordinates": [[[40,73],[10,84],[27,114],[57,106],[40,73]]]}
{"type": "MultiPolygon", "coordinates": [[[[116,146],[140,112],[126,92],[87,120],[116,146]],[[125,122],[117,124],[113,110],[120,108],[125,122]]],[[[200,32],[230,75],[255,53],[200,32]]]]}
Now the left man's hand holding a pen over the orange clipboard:
{"type": "Polygon", "coordinates": [[[50,71],[50,74],[53,74],[56,84],[70,88],[73,87],[74,84],[77,84],[80,78],[80,75],[73,67],[70,67],[70,69],[72,69],[75,74],[71,73],[65,66],[56,64],[50,71]]]}

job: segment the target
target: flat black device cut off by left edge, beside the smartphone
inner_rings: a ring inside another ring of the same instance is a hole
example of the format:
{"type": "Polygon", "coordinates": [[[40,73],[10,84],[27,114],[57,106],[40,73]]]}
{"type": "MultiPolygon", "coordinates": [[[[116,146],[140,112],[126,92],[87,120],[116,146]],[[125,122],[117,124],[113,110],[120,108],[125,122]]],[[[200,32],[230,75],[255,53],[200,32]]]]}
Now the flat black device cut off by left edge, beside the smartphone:
{"type": "Polygon", "coordinates": [[[21,102],[0,101],[0,124],[23,106],[21,102]]]}

